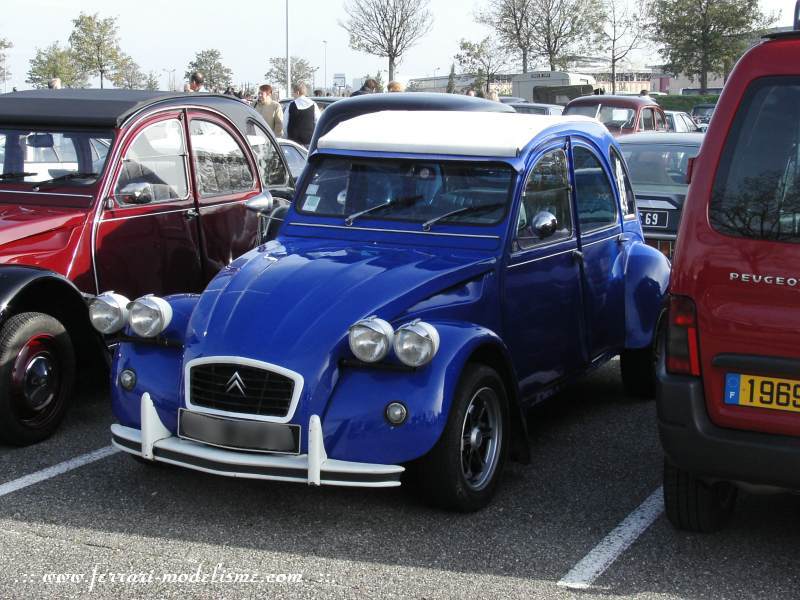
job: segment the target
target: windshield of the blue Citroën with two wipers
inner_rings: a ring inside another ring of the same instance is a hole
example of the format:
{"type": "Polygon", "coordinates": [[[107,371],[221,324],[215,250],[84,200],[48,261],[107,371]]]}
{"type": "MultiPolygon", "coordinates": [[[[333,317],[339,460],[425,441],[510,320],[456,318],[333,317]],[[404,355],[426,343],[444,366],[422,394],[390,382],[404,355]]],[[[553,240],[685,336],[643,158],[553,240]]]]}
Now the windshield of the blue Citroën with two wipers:
{"type": "Polygon", "coordinates": [[[492,225],[506,213],[514,170],[505,164],[322,158],[298,196],[305,214],[492,225]],[[447,213],[457,214],[438,220],[447,213]]]}

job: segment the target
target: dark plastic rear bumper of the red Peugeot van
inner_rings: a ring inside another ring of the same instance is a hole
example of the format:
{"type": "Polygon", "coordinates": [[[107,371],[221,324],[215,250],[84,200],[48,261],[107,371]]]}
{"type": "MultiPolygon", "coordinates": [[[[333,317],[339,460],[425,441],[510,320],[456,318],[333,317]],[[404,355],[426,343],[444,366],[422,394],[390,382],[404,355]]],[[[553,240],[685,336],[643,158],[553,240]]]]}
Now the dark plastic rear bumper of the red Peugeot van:
{"type": "Polygon", "coordinates": [[[663,360],[656,406],[661,445],[675,466],[709,480],[800,490],[800,439],[714,425],[702,380],[668,375],[663,360]]]}

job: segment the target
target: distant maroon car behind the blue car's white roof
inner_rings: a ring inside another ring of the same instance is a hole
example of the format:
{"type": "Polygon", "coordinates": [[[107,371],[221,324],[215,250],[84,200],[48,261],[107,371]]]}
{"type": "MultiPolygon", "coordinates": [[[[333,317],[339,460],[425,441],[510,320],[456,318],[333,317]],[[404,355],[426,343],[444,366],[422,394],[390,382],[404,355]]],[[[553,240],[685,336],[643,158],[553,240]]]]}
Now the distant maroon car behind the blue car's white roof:
{"type": "Polygon", "coordinates": [[[581,96],[567,104],[564,114],[593,117],[615,136],[667,130],[664,109],[649,96],[581,96]]]}

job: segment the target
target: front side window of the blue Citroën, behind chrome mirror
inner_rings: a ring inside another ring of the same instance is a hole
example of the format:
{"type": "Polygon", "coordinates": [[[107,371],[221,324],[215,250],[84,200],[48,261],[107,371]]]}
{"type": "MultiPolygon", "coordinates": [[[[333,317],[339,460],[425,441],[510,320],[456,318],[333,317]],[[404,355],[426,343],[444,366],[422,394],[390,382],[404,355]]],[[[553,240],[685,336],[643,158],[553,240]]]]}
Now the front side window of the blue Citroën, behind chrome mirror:
{"type": "Polygon", "coordinates": [[[548,152],[531,169],[522,194],[517,222],[520,248],[531,248],[572,235],[569,190],[567,155],[560,148],[548,152]],[[551,224],[552,217],[555,217],[555,228],[552,233],[543,235],[537,225],[551,224]]]}

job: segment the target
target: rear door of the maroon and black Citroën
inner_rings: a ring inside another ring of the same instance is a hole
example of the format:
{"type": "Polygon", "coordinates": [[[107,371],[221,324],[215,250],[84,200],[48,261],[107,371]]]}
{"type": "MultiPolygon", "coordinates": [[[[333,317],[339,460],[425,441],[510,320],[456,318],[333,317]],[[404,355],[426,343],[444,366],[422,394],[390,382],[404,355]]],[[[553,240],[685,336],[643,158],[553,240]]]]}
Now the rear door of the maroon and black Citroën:
{"type": "Polygon", "coordinates": [[[261,192],[261,184],[241,134],[215,114],[189,114],[189,150],[210,279],[258,243],[258,215],[245,202],[261,192]]]}

